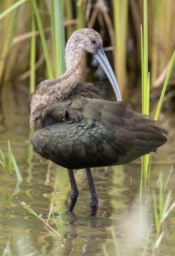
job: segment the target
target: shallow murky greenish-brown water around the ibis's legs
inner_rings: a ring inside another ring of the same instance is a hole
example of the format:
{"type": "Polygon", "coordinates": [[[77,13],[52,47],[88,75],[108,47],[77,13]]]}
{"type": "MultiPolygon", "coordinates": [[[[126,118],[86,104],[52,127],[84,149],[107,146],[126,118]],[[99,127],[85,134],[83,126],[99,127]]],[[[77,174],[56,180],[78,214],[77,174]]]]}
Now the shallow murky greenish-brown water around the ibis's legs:
{"type": "MultiPolygon", "coordinates": [[[[148,228],[150,236],[146,255],[151,255],[156,231],[153,206],[149,198],[153,189],[158,193],[156,182],[160,171],[164,175],[165,184],[175,161],[174,116],[160,116],[162,125],[169,130],[169,141],[153,155],[148,200],[139,202],[140,160],[125,166],[93,168],[99,206],[97,216],[90,218],[90,193],[86,172],[75,172],[79,200],[74,213],[70,214],[66,211],[70,198],[67,170],[33,152],[25,86],[7,86],[1,99],[1,149],[7,156],[10,139],[23,181],[17,193],[16,182],[0,166],[0,255],[113,256],[117,254],[111,229],[116,234],[121,256],[142,255],[148,228]],[[61,228],[61,236],[65,239],[58,237],[19,202],[30,205],[43,219],[47,219],[50,206],[53,205],[55,218],[50,218],[49,223],[57,230],[54,223],[56,221],[61,228]]],[[[167,187],[167,191],[172,191],[172,202],[175,200],[174,180],[173,171],[167,187]]],[[[175,212],[172,211],[165,221],[164,238],[156,255],[174,255],[174,223],[175,212]]]]}

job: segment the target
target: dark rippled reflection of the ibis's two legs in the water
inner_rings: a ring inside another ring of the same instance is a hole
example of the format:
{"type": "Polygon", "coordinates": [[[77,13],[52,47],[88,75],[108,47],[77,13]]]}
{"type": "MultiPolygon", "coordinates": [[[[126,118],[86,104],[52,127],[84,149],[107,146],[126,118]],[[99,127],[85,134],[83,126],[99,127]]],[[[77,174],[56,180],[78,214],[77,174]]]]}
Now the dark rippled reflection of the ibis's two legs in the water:
{"type": "MultiPolygon", "coordinates": [[[[63,253],[63,256],[69,256],[72,255],[73,253],[73,240],[78,236],[77,235],[77,225],[75,224],[76,221],[79,220],[79,217],[77,215],[75,215],[75,213],[72,212],[68,212],[68,214],[70,215],[70,233],[69,233],[69,238],[66,239],[66,243],[65,243],[65,252],[63,253]]],[[[96,216],[91,216],[90,218],[90,235],[89,235],[89,239],[88,242],[83,246],[83,253],[82,255],[88,255],[88,253],[90,252],[92,246],[92,243],[95,242],[96,239],[96,230],[97,230],[97,225],[98,225],[98,218],[96,216]]]]}

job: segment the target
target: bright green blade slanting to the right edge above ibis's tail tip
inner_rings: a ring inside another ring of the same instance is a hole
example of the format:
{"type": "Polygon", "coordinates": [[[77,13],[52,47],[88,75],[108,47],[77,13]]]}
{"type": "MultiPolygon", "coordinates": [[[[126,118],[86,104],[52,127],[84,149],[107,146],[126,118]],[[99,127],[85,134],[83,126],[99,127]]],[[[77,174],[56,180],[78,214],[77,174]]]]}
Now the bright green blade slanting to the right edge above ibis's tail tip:
{"type": "Polygon", "coordinates": [[[174,65],[174,60],[175,60],[175,51],[174,51],[174,53],[172,55],[172,59],[171,59],[170,65],[169,65],[169,70],[167,72],[167,76],[166,76],[166,79],[165,79],[164,87],[162,89],[160,100],[158,102],[158,107],[156,109],[156,114],[155,114],[155,120],[158,120],[158,116],[160,114],[160,109],[162,108],[162,103],[163,103],[165,92],[166,92],[166,89],[167,89],[167,84],[169,83],[169,77],[171,75],[172,67],[174,65]]]}

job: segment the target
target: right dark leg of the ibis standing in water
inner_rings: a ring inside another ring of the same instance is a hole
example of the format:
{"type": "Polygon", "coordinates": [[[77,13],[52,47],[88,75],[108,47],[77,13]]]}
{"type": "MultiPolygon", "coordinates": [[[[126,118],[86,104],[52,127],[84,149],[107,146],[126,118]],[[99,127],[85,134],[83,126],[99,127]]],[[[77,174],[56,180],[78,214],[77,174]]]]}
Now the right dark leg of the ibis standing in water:
{"type": "Polygon", "coordinates": [[[91,191],[90,205],[91,205],[91,216],[93,216],[93,215],[96,215],[96,211],[98,208],[98,197],[96,195],[95,186],[94,186],[93,177],[92,177],[90,168],[86,168],[86,174],[88,177],[89,189],[91,191]]]}

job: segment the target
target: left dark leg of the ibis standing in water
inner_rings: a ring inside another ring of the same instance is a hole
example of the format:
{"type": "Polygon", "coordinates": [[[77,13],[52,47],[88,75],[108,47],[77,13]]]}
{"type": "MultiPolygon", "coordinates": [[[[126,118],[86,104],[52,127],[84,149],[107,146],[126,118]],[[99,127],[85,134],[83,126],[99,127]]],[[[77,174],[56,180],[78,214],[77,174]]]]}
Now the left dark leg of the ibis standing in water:
{"type": "Polygon", "coordinates": [[[79,190],[77,188],[77,184],[75,181],[75,177],[73,174],[73,170],[72,169],[68,169],[68,173],[69,173],[69,177],[70,177],[70,184],[71,184],[71,194],[70,194],[70,205],[68,207],[68,211],[73,211],[73,208],[75,207],[75,204],[77,202],[77,198],[79,195],[79,190]]]}

